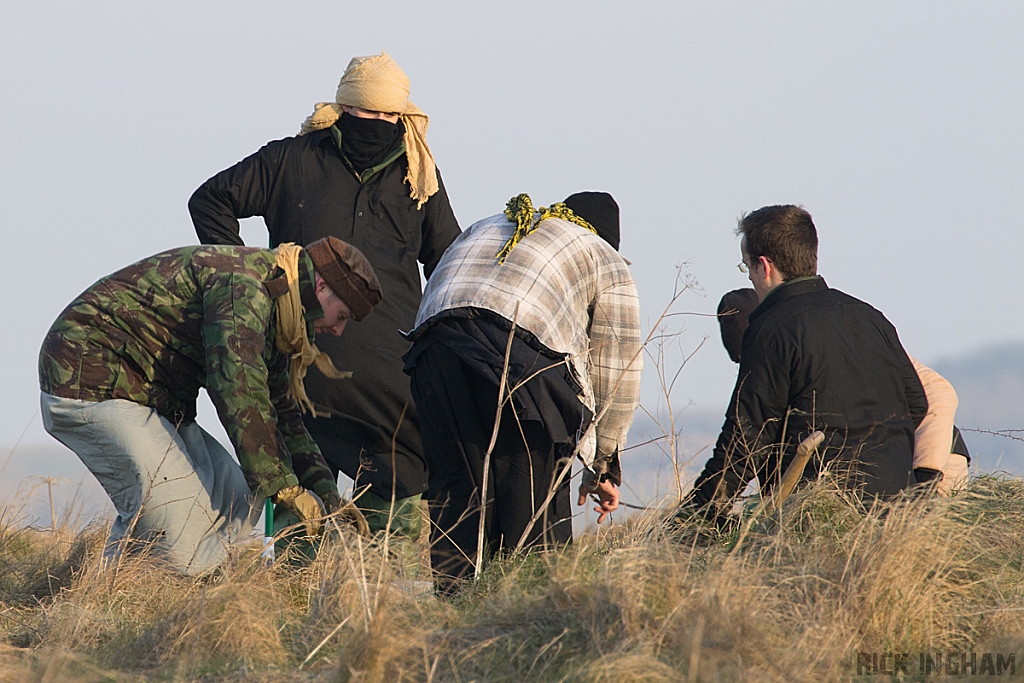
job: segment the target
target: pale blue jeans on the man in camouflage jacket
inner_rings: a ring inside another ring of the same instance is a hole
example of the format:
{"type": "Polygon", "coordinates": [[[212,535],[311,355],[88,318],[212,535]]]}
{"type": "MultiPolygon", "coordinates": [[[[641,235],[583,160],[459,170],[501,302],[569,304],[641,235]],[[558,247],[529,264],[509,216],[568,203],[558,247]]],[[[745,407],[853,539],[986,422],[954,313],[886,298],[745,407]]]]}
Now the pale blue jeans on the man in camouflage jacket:
{"type": "Polygon", "coordinates": [[[186,574],[216,567],[259,519],[242,468],[195,422],[175,426],[151,408],[43,393],[43,426],[74,451],[111,497],[117,518],[104,557],[128,540],[186,574]]]}

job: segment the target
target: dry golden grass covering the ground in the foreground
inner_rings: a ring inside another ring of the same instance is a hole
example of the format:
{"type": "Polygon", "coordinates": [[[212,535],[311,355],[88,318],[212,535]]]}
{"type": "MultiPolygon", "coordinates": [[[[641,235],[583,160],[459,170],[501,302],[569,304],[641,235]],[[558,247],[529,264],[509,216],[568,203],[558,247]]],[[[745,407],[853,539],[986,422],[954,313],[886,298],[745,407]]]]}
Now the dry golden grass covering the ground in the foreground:
{"type": "Polygon", "coordinates": [[[1024,676],[1021,480],[870,511],[821,482],[686,543],[637,516],[493,562],[452,602],[403,593],[357,538],[304,569],[245,548],[194,580],[100,570],[100,530],[0,518],[2,681],[819,682],[893,651],[1016,653],[1024,676]]]}

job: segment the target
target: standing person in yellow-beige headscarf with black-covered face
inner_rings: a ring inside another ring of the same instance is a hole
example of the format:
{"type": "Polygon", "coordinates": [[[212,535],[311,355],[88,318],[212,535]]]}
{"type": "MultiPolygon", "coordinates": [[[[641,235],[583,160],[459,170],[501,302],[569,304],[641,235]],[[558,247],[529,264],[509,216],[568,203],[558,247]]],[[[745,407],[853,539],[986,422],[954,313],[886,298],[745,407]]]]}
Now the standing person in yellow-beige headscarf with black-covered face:
{"type": "Polygon", "coordinates": [[[358,504],[374,531],[398,536],[415,572],[427,472],[399,334],[459,225],[426,142],[428,117],[409,100],[409,79],[386,53],[354,57],[333,102],[321,102],[299,134],[274,140],[213,176],[188,202],[204,244],[243,244],[239,218],[262,216],[271,246],[333,236],[358,248],[384,299],[358,329],[324,340],[350,379],[310,369],[317,416],[306,425],[335,471],[365,487],[358,504]]]}

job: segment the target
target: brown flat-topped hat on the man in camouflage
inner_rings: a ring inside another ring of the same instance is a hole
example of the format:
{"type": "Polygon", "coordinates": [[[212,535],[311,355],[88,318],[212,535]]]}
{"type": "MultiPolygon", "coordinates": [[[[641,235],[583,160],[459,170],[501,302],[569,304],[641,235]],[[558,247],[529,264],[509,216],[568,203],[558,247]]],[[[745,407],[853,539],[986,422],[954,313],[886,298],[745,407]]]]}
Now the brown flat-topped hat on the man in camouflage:
{"type": "Polygon", "coordinates": [[[358,249],[338,238],[323,238],[305,247],[313,267],[331,291],[361,321],[381,302],[381,284],[370,261],[358,249]]]}

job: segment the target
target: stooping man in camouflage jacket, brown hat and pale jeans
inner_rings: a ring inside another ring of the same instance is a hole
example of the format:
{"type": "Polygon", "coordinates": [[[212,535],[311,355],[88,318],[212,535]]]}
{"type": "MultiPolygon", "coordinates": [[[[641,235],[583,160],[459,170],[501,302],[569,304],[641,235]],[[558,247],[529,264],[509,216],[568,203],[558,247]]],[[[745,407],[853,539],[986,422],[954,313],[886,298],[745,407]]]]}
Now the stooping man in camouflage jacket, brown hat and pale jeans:
{"type": "Polygon", "coordinates": [[[303,520],[323,514],[321,500],[340,504],[302,422],[279,309],[289,296],[301,302],[293,328],[315,355],[314,331],[339,335],[366,317],[380,286],[340,240],[291,249],[291,278],[279,250],[163,252],[101,279],[50,328],[39,359],[43,422],[114,503],[108,557],[122,539],[142,540],[176,569],[202,573],[248,537],[263,499],[303,520]],[[238,463],[195,422],[201,387],[238,463]]]}

